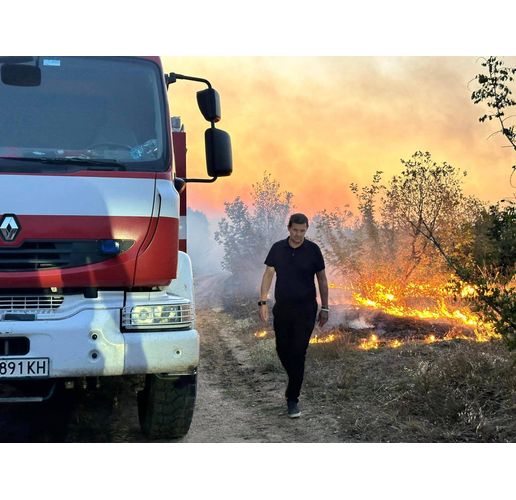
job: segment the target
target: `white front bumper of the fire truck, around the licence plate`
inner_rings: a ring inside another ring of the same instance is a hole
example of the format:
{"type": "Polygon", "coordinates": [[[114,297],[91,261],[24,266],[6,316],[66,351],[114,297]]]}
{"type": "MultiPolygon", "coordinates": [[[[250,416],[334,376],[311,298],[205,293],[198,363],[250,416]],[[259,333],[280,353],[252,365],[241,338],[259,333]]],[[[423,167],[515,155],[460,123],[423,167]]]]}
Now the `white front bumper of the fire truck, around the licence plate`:
{"type": "Polygon", "coordinates": [[[25,337],[30,345],[23,355],[0,351],[0,362],[48,358],[49,377],[183,375],[197,368],[199,336],[194,324],[183,330],[122,332],[123,294],[106,292],[98,299],[68,303],[59,313],[48,314],[49,319],[0,321],[0,342],[25,337]]]}

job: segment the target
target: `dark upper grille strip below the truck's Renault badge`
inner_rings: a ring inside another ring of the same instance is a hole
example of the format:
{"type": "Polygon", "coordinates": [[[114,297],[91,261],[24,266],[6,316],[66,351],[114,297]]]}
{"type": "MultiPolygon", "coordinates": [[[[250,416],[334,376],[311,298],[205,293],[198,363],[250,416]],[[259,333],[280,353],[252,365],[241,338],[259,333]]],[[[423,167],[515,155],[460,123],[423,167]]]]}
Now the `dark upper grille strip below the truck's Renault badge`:
{"type": "MultiPolygon", "coordinates": [[[[116,241],[120,253],[129,250],[134,243],[132,240],[116,241]]],[[[0,246],[0,272],[79,267],[114,256],[102,252],[100,240],[26,241],[16,248],[0,246]]]]}

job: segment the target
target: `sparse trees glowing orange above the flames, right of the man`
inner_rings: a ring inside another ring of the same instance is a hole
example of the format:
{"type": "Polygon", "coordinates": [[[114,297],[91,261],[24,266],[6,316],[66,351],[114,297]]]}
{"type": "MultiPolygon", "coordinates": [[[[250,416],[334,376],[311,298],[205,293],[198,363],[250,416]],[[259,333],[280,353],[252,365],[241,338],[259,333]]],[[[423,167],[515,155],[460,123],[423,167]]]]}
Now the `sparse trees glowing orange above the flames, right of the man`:
{"type": "Polygon", "coordinates": [[[349,278],[355,288],[368,293],[377,281],[403,297],[410,282],[442,284],[446,266],[437,250],[421,234],[429,226],[457,249],[468,242],[468,226],[480,202],[462,192],[460,172],[447,163],[438,164],[430,153],[417,151],[401,160],[402,172],[386,184],[382,172],[369,186],[351,185],[358,198],[360,217],[323,212],[318,231],[328,260],[349,278]]]}

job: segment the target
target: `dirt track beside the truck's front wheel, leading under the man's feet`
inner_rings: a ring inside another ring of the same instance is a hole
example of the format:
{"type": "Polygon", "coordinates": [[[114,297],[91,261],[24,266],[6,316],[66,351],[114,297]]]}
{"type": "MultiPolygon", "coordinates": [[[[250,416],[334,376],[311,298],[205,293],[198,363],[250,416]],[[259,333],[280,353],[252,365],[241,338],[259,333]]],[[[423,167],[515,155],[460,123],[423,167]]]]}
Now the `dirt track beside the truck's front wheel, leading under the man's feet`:
{"type": "Polygon", "coordinates": [[[204,332],[197,408],[185,442],[331,442],[337,427],[320,408],[305,402],[289,419],[282,375],[260,373],[246,349],[222,321],[203,310],[204,332]]]}

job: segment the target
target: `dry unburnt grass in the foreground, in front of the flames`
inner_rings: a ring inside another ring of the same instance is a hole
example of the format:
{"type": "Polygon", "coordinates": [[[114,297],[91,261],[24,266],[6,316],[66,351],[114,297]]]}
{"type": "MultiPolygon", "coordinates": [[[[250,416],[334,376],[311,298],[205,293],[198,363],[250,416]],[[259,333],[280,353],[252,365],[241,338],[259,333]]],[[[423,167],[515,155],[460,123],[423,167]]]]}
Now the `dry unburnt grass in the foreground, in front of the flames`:
{"type": "MultiPolygon", "coordinates": [[[[273,338],[243,335],[260,371],[282,372],[273,338]]],[[[342,441],[516,441],[514,355],[499,342],[311,345],[302,397],[338,421],[342,441]]]]}

